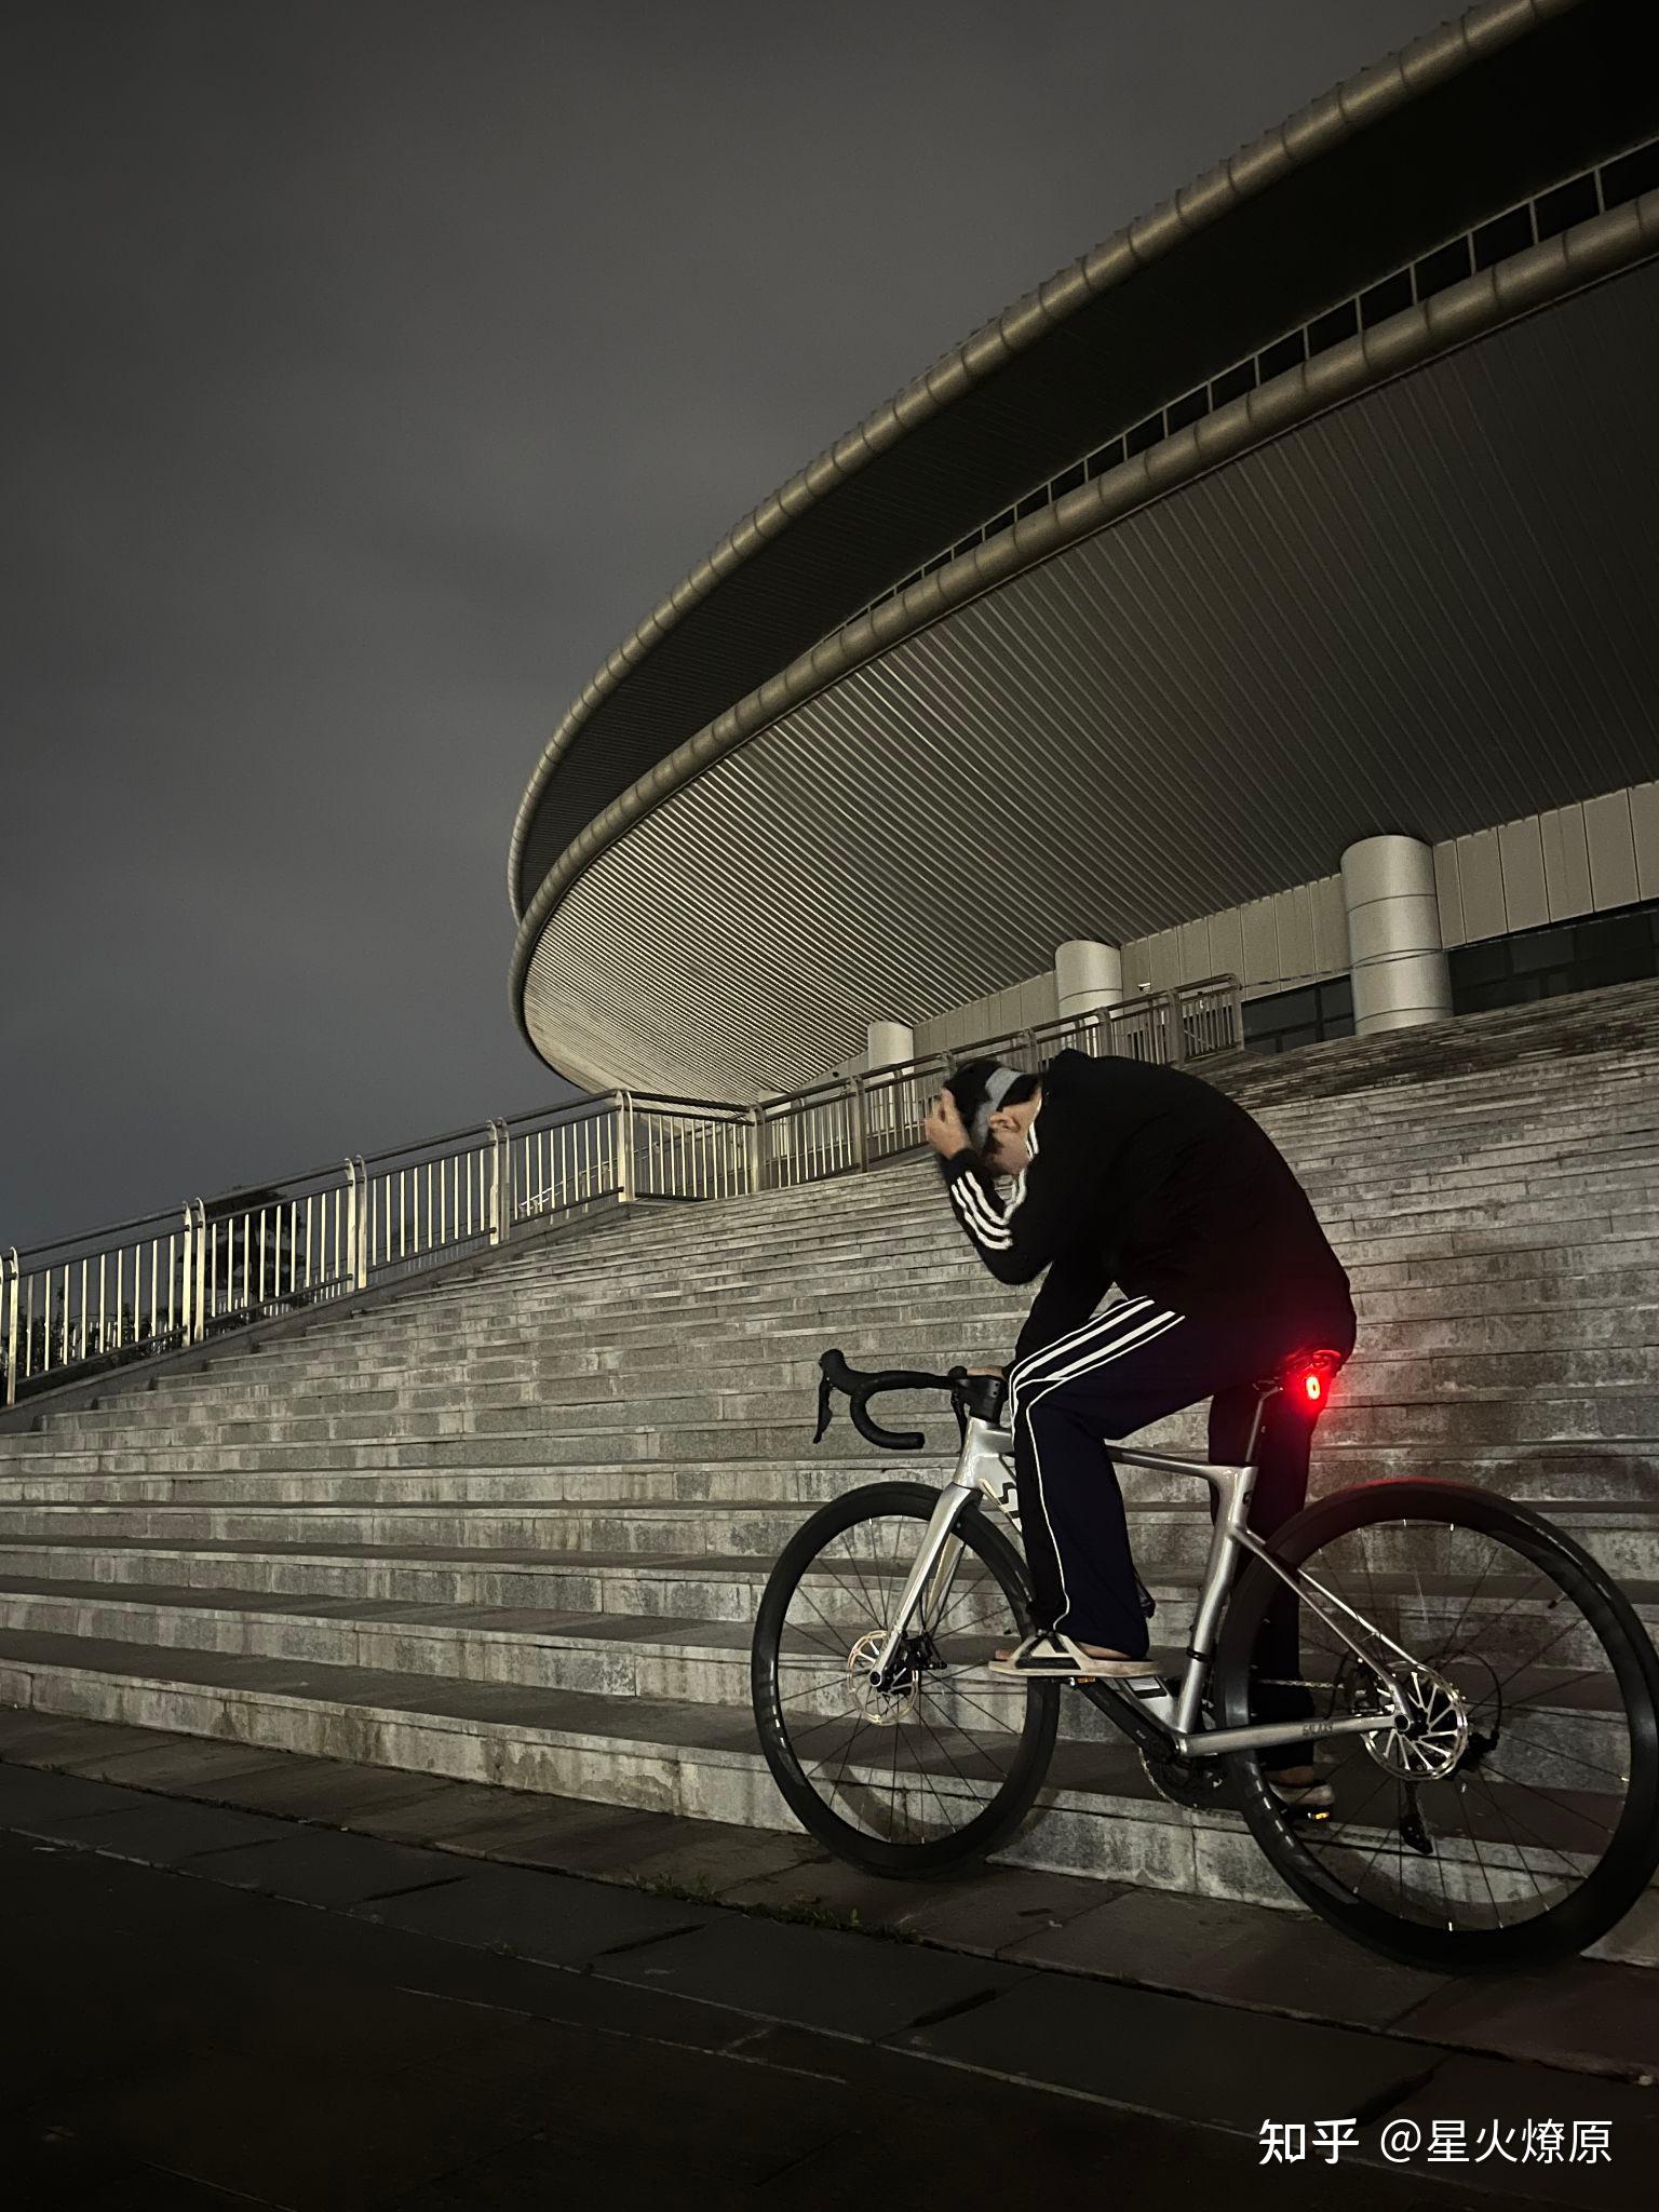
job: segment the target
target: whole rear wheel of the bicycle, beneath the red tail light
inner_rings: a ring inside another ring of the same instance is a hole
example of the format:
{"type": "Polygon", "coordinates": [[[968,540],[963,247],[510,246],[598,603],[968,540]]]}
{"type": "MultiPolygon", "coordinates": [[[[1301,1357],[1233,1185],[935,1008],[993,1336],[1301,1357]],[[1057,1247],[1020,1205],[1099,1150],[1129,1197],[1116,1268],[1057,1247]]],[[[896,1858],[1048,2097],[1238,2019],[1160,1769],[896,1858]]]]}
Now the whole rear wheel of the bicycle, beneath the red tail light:
{"type": "MultiPolygon", "coordinates": [[[[1256,1756],[1232,1756],[1281,1878],[1358,1942],[1440,1973],[1537,1966],[1606,1936],[1659,1865],[1659,1659],[1606,1571],[1540,1513],[1455,1482],[1343,1491],[1272,1551],[1411,1657],[1336,1613],[1409,1683],[1420,1723],[1325,1739],[1334,1805],[1318,1816],[1290,1814],[1256,1756]]],[[[1217,1650],[1223,1725],[1283,1717],[1274,1599],[1298,1615],[1290,1683],[1314,1717],[1389,1710],[1378,1668],[1252,1562],[1217,1650]]]]}

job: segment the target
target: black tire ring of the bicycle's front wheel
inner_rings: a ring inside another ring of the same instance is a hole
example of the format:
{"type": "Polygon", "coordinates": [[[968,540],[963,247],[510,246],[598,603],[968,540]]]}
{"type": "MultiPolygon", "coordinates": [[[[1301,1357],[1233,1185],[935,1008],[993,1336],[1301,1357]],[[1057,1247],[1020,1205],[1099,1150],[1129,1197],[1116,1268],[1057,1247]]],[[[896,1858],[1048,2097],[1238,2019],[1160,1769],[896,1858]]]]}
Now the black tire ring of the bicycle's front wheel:
{"type": "MultiPolygon", "coordinates": [[[[772,1770],[772,1778],[779,1785],[790,1812],[794,1812],[807,1834],[816,1836],[816,1840],[834,1851],[836,1858],[843,1858],[854,1867],[863,1867],[867,1874],[885,1874],[898,1880],[925,1880],[947,1867],[973,1865],[989,1851],[995,1851],[998,1845],[1006,1843],[1024,1820],[1042,1787],[1060,1723],[1060,1683],[1026,1683],[1020,1741],[1006,1781],[984,1803],[984,1807],[964,1823],[962,1829],[925,1840],[902,1843],[887,1836],[865,1834],[825,1801],[821,1790],[814,1787],[812,1776],[805,1772],[790,1734],[790,1723],[783,1710],[785,1694],[781,1688],[783,1628],[790,1601],[803,1575],[825,1553],[825,1546],[863,1520],[914,1520],[918,1524],[916,1537],[920,1548],[920,1535],[938,1506],[938,1495],[940,1493],[936,1489],[920,1482],[872,1482],[821,1506],[812,1520],[803,1522],[794,1537],[790,1537],[776,1566],[772,1568],[754,1617],[754,1641],[750,1650],[754,1725],[765,1763],[772,1770]]],[[[1009,1537],[991,1524],[978,1502],[969,1502],[962,1509],[951,1533],[958,1535],[995,1577],[1002,1597],[1009,1601],[1009,1632],[1029,1632],[1033,1626],[1031,1593],[1024,1577],[1024,1562],[1009,1537]]],[[[869,1628],[885,1626],[885,1621],[869,1621],[869,1628]]],[[[854,1641],[856,1637],[849,1637],[849,1650],[854,1641]]],[[[854,1721],[854,1725],[858,1723],[854,1721]]],[[[867,1734],[874,1732],[874,1723],[869,1723],[867,1734]]],[[[894,1750],[894,1765],[896,1759],[898,1752],[894,1750]]],[[[894,1790],[898,1790],[896,1781],[894,1790]]]]}

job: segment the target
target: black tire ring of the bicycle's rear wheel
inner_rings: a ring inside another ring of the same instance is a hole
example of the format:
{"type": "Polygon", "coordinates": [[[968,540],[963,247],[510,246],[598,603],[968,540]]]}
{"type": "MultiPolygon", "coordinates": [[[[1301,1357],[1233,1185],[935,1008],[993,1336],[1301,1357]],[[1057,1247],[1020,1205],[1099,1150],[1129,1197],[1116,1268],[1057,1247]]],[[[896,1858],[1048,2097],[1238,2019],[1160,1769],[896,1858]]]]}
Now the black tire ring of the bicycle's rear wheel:
{"type": "MultiPolygon", "coordinates": [[[[1345,1489],[1318,1504],[1305,1506],[1294,1520],[1285,1522],[1274,1535],[1272,1553],[1285,1566],[1301,1568],[1340,1537],[1400,1522],[1444,1524],[1495,1537],[1524,1562],[1531,1562],[1533,1568],[1548,1575],[1557,1590],[1582,1608],[1584,1624],[1599,1641],[1617,1692],[1624,1699],[1624,1721],[1630,1739],[1626,1754],[1628,1790],[1606,1851],[1577,1889],[1544,1911],[1498,1927],[1436,1927],[1416,1916],[1389,1911],[1356,1896],[1345,1882],[1334,1880],[1329,1863],[1318,1851],[1318,1825],[1287,1818],[1283,1803],[1276,1801],[1263,1778],[1259,1759],[1250,1752],[1230,1754],[1237,1805],[1279,1878],[1305,1905],[1312,1905],[1314,1911],[1367,1949],[1413,1966],[1429,1966],[1438,1973],[1522,1973],[1551,1960],[1571,1958],[1606,1936],[1630,1911],[1659,1867],[1659,1657],[1655,1655],[1652,1639],[1624,1590],[1619,1590],[1590,1553],[1542,1513],[1498,1498],[1475,1484],[1402,1478],[1345,1489]]],[[[1314,1566],[1314,1573],[1318,1573],[1318,1566],[1314,1566]]],[[[1252,1559],[1232,1593],[1217,1644],[1214,1690],[1221,1725],[1237,1728],[1245,1725],[1252,1717],[1261,1717],[1252,1714],[1250,1657],[1256,1648],[1265,1608],[1276,1590],[1283,1590],[1279,1577],[1259,1559],[1252,1559]]],[[[1513,1613],[1515,1608],[1511,1606],[1509,1610],[1513,1613]]],[[[1458,1626],[1462,1626],[1467,1613],[1469,1604],[1464,1604],[1458,1626]]],[[[1480,1635],[1484,1630],[1475,1632],[1475,1641],[1480,1641],[1480,1635]]],[[[1407,1644],[1405,1648],[1409,1650],[1411,1646],[1407,1644]]],[[[1440,1655],[1436,1655],[1438,1661],[1440,1655]]],[[[1453,1659],[1451,1663],[1460,1661],[1453,1659]]],[[[1358,1736],[1340,1741],[1345,1745],[1363,1743],[1358,1736]]],[[[1579,1765],[1588,1765],[1588,1761],[1579,1761],[1579,1765]]],[[[1502,1770],[1495,1772],[1500,1790],[1506,1787],[1509,1776],[1502,1770]]],[[[1451,1781],[1455,1778],[1453,1770],[1451,1781]]],[[[1449,1787],[1449,1783],[1438,1781],[1433,1787],[1449,1787]]],[[[1522,1787],[1528,1785],[1522,1783],[1522,1787]]],[[[1411,1803],[1416,1807],[1416,1798],[1411,1803]]],[[[1400,1823],[1400,1834],[1407,1834],[1405,1823],[1400,1823]]],[[[1442,1834],[1449,1836],[1451,1832],[1442,1834]]],[[[1473,1827],[1467,1827],[1467,1834],[1475,1860],[1480,1860],[1480,1843],[1473,1836],[1473,1827]]],[[[1411,1849],[1416,1854],[1418,1845],[1413,1843],[1411,1849]]],[[[1555,1845],[1546,1845],[1546,1849],[1555,1849],[1557,1858],[1568,1858],[1555,1845]]],[[[1354,1856],[1358,1856],[1358,1845],[1354,1847],[1354,1856]]],[[[1400,1898],[1405,1905],[1402,1851],[1400,1858],[1400,1898]]],[[[1444,1891],[1444,1871],[1440,1880],[1444,1891]]],[[[1489,1893],[1493,1898],[1491,1911],[1502,1920],[1502,1907],[1491,1882],[1489,1893]]]]}

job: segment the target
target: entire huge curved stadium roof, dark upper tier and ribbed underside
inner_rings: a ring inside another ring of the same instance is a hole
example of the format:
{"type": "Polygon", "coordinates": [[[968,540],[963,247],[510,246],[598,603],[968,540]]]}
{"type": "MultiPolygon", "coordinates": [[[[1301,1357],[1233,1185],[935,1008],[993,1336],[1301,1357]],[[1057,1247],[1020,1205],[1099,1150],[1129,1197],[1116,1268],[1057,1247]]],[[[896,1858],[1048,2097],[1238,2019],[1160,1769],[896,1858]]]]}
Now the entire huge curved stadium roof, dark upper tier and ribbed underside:
{"type": "Polygon", "coordinates": [[[531,779],[535,1048],[794,1088],[1064,936],[1650,774],[1657,13],[1471,11],[757,509],[531,779]]]}

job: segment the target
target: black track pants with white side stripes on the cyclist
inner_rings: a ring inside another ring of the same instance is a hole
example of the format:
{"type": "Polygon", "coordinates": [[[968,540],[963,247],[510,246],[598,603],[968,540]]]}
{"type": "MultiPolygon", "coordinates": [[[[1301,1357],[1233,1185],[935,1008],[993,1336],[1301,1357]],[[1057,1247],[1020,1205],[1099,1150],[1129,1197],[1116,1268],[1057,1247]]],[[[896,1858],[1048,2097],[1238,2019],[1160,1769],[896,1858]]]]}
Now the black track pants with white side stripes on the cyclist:
{"type": "MultiPolygon", "coordinates": [[[[1009,1369],[1020,1524],[1040,1626],[1133,1659],[1146,1652],[1124,1495],[1104,1440],[1135,1436],[1210,1398],[1208,1453],[1239,1462],[1256,1405],[1252,1383],[1310,1343],[1352,1352],[1352,1318],[1310,1318],[1272,1303],[1250,1314],[1186,1316],[1152,1298],[1124,1298],[1009,1369]]],[[[1305,1504],[1312,1427],[1283,1398],[1270,1400],[1250,1504],[1256,1535],[1272,1535],[1305,1504]]],[[[1214,1493],[1208,1495],[1214,1517],[1214,1493]]],[[[1296,1604],[1285,1597],[1256,1650],[1265,1677],[1298,1672],[1296,1604]]],[[[1305,1690],[1263,1694],[1263,1719],[1310,1712],[1305,1690]]],[[[1296,1765],[1301,1756],[1305,1750],[1290,1745],[1265,1763],[1296,1765]]]]}

